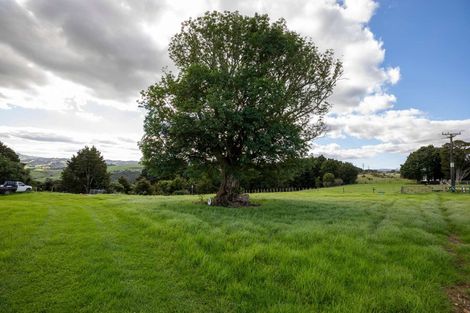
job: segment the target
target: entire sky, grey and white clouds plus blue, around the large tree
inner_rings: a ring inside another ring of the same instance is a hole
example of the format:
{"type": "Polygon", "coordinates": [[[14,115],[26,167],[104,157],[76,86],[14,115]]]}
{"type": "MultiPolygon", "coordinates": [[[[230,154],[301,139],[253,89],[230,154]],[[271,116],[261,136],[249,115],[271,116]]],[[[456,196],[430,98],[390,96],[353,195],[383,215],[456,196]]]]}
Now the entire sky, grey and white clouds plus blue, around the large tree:
{"type": "Polygon", "coordinates": [[[140,91],[173,67],[181,22],[208,10],[285,18],[343,61],[314,155],[398,168],[442,132],[470,140],[470,1],[0,0],[0,141],[139,160],[140,91]]]}

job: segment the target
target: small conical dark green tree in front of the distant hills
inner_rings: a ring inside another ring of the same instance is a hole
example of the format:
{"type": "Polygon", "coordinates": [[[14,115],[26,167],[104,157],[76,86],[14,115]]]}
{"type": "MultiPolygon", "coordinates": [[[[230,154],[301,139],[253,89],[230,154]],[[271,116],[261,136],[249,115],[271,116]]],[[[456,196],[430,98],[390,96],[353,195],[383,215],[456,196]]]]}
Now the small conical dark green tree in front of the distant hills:
{"type": "Polygon", "coordinates": [[[106,162],[94,146],[78,151],[62,171],[62,188],[67,192],[89,193],[91,189],[107,189],[109,182],[106,162]]]}

